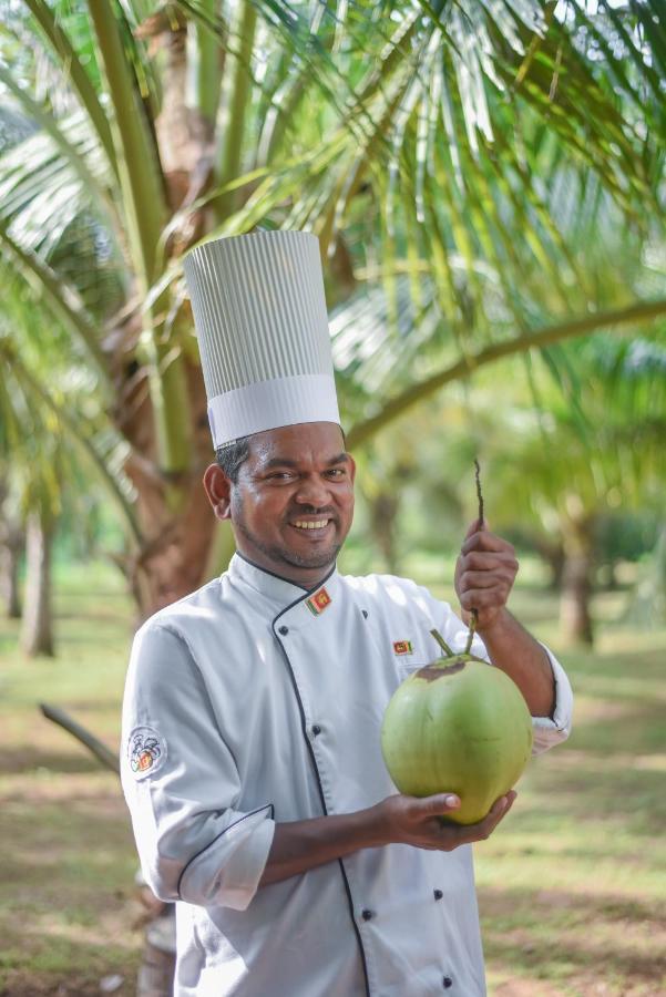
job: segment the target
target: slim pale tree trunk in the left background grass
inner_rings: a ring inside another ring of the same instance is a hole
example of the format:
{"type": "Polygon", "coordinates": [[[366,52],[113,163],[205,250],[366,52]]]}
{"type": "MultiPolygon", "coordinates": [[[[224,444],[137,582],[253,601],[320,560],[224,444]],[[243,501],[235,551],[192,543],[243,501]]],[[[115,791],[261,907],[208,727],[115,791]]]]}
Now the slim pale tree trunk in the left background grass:
{"type": "Polygon", "coordinates": [[[53,621],[51,594],[51,547],[53,520],[42,511],[28,517],[25,546],[25,609],[21,629],[21,647],[31,658],[53,657],[53,621]]]}

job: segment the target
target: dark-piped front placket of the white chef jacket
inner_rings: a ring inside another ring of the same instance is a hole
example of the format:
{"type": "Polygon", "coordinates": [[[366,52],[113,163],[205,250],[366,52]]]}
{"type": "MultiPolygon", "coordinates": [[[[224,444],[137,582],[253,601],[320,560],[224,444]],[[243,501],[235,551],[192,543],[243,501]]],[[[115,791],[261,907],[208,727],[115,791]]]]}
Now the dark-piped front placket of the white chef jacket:
{"type": "MultiPolygon", "coordinates": [[[[327,582],[330,586],[331,583],[329,578],[324,580],[324,585],[326,586],[327,582]]],[[[312,589],[312,592],[304,594],[301,598],[297,599],[285,609],[283,609],[274,618],[271,626],[275,638],[279,644],[279,647],[281,648],[285,665],[287,667],[291,687],[294,689],[294,695],[296,696],[296,700],[298,702],[303,737],[307,744],[308,754],[312,763],[312,771],[317,781],[319,799],[321,801],[321,811],[325,816],[328,816],[329,813],[335,812],[336,805],[335,800],[331,799],[330,792],[328,791],[329,780],[326,778],[322,759],[317,751],[317,738],[319,738],[322,732],[321,724],[318,723],[317,720],[320,720],[321,718],[315,718],[312,716],[309,696],[307,693],[307,682],[305,682],[304,678],[300,676],[298,652],[294,647],[299,633],[303,629],[309,628],[317,624],[317,618],[315,616],[310,616],[310,618],[308,618],[308,609],[306,607],[306,603],[312,595],[312,593],[316,593],[320,588],[321,584],[318,585],[316,589],[312,589]]],[[[361,928],[357,919],[357,906],[355,903],[355,897],[352,895],[350,878],[342,859],[338,859],[338,866],[340,868],[340,874],[345,884],[345,894],[347,896],[347,903],[349,905],[351,926],[359,946],[359,954],[363,968],[366,994],[367,997],[372,997],[372,994],[377,993],[375,987],[371,985],[371,978],[375,976],[375,974],[372,973],[370,960],[368,958],[369,954],[366,949],[366,946],[363,945],[361,928]]],[[[363,909],[360,915],[361,921],[369,919],[368,914],[370,914],[371,916],[371,913],[369,911],[363,909]]]]}

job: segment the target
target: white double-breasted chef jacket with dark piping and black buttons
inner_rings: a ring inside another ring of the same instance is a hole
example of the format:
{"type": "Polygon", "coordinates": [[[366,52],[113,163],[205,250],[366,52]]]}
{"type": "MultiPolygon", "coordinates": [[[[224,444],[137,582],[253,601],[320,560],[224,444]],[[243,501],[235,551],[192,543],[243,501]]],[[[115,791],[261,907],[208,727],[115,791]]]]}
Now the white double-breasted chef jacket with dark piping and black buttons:
{"type": "MultiPolygon", "coordinates": [[[[312,592],[235,555],[139,630],[122,781],[146,881],[177,901],[176,997],[426,997],[485,993],[472,850],[365,849],[258,883],[275,822],[342,814],[396,792],[385,708],[467,628],[413,582],[341,576],[312,592]]],[[[484,656],[480,640],[474,651],[484,656]]],[[[572,692],[551,655],[562,741],[572,692]]]]}

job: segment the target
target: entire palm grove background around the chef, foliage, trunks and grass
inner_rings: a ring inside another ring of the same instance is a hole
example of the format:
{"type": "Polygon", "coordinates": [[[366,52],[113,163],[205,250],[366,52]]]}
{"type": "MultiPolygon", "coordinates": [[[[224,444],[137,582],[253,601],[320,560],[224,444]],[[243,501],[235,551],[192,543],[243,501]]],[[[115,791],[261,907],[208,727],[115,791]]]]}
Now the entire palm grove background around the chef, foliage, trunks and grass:
{"type": "Polygon", "coordinates": [[[341,568],[454,598],[478,458],[576,689],[478,862],[491,989],[664,991],[663,0],[0,12],[0,990],[135,993],[115,775],[37,697],[117,743],[133,625],[227,564],[181,258],[285,227],[359,464],[341,568]]]}

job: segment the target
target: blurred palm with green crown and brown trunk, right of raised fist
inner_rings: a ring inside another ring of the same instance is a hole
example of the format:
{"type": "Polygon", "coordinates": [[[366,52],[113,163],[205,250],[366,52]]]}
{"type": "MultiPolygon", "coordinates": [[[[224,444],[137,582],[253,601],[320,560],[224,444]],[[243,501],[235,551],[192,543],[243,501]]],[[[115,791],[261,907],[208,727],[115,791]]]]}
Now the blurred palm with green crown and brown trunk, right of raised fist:
{"type": "Polygon", "coordinates": [[[567,643],[593,641],[591,597],[603,518],[662,511],[665,371],[664,329],[660,343],[597,336],[570,345],[556,384],[552,369],[542,366],[522,392],[514,386],[513,404],[501,405],[489,387],[475,407],[491,472],[491,521],[520,523],[526,535],[532,528],[543,545],[562,552],[560,617],[567,643]]]}

